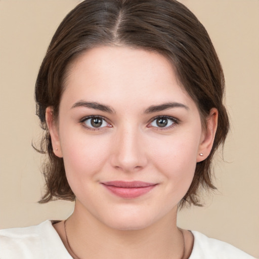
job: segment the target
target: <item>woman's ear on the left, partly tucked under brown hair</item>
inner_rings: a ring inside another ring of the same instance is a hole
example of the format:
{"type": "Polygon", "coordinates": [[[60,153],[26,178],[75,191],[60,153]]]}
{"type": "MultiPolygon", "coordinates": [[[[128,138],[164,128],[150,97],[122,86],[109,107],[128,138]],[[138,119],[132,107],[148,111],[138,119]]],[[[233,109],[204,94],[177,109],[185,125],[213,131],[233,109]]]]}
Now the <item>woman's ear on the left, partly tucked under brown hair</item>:
{"type": "Polygon", "coordinates": [[[60,145],[60,139],[59,139],[58,124],[57,124],[57,121],[55,121],[55,118],[53,115],[53,108],[50,106],[47,107],[46,109],[46,122],[51,135],[53,152],[56,156],[63,157],[61,145],[60,145]]]}

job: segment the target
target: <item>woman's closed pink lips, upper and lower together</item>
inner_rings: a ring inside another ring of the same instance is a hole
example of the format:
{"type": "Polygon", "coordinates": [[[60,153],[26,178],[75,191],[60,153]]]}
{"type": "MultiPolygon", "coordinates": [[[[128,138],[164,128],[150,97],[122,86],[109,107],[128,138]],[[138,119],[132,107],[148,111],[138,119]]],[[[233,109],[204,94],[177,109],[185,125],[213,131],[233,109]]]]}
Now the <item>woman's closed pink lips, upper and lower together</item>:
{"type": "Polygon", "coordinates": [[[101,183],[106,189],[121,198],[137,198],[151,191],[157,184],[141,181],[111,181],[101,183]]]}

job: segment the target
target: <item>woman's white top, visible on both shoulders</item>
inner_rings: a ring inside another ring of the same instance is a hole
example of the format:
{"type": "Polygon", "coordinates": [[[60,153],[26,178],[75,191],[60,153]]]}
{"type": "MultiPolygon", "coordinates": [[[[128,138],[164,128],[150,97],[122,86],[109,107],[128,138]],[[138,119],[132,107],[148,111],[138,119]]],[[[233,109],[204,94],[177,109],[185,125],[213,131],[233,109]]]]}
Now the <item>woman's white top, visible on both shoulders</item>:
{"type": "MultiPolygon", "coordinates": [[[[252,259],[238,248],[192,231],[194,245],[189,259],[252,259]]],[[[0,230],[1,259],[72,259],[51,221],[37,226],[0,230]]]]}

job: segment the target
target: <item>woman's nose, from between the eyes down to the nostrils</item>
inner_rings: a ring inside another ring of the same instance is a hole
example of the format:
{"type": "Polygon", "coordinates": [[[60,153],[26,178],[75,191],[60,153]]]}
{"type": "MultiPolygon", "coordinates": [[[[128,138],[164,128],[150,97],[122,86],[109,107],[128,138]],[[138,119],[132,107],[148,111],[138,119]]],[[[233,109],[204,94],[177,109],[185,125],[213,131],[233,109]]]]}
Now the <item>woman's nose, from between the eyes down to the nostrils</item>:
{"type": "Polygon", "coordinates": [[[112,143],[112,166],[123,172],[133,172],[147,164],[146,147],[142,133],[136,128],[118,130],[112,143]]]}

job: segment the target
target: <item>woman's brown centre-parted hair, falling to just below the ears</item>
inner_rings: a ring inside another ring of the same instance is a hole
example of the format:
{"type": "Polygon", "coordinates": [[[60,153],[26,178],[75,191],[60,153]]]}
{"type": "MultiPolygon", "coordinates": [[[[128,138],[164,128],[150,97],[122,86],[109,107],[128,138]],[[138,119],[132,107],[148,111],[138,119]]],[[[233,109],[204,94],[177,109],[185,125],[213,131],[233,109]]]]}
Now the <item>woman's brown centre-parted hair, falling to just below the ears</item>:
{"type": "Polygon", "coordinates": [[[156,51],[175,66],[180,82],[195,101],[203,126],[211,108],[219,111],[218,129],[209,156],[196,165],[194,179],[180,202],[199,204],[199,189],[215,189],[211,159],[223,144],[229,121],[223,105],[224,74],[211,40],[198,19],[175,0],[86,0],[62,21],[42,61],[35,85],[37,115],[45,130],[40,152],[48,153],[43,173],[46,193],[40,202],[74,200],[62,158],[53,153],[45,113],[58,117],[68,65],[82,52],[100,45],[122,45],[156,51]]]}

